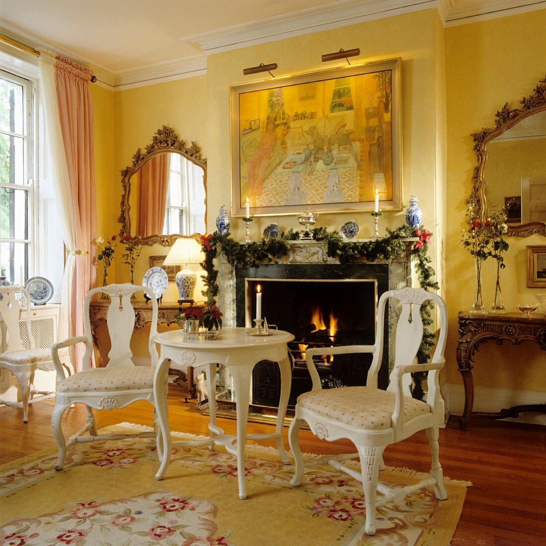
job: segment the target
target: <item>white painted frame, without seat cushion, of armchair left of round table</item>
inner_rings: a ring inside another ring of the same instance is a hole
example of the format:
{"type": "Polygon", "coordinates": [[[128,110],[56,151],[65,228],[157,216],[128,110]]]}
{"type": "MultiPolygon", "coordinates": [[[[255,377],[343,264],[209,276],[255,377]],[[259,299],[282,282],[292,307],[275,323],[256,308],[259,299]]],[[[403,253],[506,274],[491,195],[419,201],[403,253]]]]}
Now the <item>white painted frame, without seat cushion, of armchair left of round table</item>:
{"type": "MultiPolygon", "coordinates": [[[[66,457],[67,449],[73,446],[76,442],[93,442],[95,440],[121,440],[122,438],[150,438],[155,437],[158,449],[158,456],[161,459],[162,456],[162,442],[161,433],[158,430],[157,414],[156,414],[156,402],[153,397],[153,373],[150,375],[149,384],[146,383],[146,388],[130,389],[130,390],[106,390],[106,391],[64,391],[59,392],[61,383],[64,381],[64,373],[61,363],[58,359],[58,351],[64,347],[70,347],[76,343],[85,343],[85,354],[82,359],[82,372],[93,371],[91,368],[91,355],[93,354],[93,339],[91,335],[91,322],[89,315],[89,308],[91,299],[96,294],[108,294],[110,296],[110,306],[106,312],[106,324],[108,325],[108,331],[111,340],[111,350],[108,353],[109,363],[106,365],[106,370],[118,370],[124,367],[135,367],[131,360],[133,353],[130,350],[130,339],[133,334],[135,311],[131,305],[130,298],[135,292],[145,292],[149,297],[152,305],[152,321],[150,325],[150,336],[148,342],[148,348],[151,356],[151,367],[155,370],[158,360],[158,353],[156,350],[156,344],[154,341],[157,335],[157,300],[152,290],[145,286],[136,286],[133,284],[109,284],[105,287],[93,288],[88,292],[85,298],[84,304],[84,317],[85,317],[85,335],[79,337],[72,337],[68,340],[60,343],[55,343],[52,347],[52,355],[57,370],[58,386],[57,397],[55,403],[55,409],[51,417],[51,425],[53,433],[57,440],[59,453],[57,457],[57,464],[55,470],[62,470],[64,466],[64,459],[66,457]],[[120,302],[121,298],[121,302],[120,302]],[[112,305],[114,304],[114,305],[112,305]],[[153,432],[139,432],[138,434],[110,434],[97,436],[97,429],[92,412],[92,408],[95,410],[107,410],[110,411],[114,408],[123,408],[130,403],[138,400],[145,400],[150,402],[153,406],[153,432]],[[62,429],[61,418],[64,411],[74,403],[83,403],[87,408],[87,422],[79,432],[76,432],[73,436],[65,441],[62,429]],[[86,432],[89,432],[89,436],[84,436],[86,432]],[[157,434],[156,434],[157,432],[157,434]]],[[[78,372],[81,373],[81,372],[78,372]]],[[[73,378],[78,376],[75,373],[73,378]]],[[[165,382],[167,382],[167,376],[165,376],[165,382]]],[[[114,382],[110,383],[114,385],[114,382]]],[[[166,387],[165,387],[166,388],[166,387]]]]}

